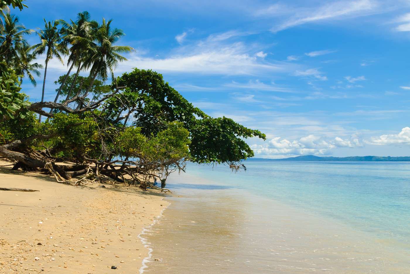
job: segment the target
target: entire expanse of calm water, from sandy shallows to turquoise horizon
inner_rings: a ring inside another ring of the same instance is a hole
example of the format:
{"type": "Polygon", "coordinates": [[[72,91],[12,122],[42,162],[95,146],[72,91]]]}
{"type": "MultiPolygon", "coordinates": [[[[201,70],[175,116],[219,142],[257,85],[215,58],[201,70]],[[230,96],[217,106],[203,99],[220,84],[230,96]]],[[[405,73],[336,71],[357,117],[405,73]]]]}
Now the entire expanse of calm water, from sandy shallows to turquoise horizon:
{"type": "Polygon", "coordinates": [[[169,180],[145,272],[409,273],[410,163],[247,168],[189,165],[169,180]]]}

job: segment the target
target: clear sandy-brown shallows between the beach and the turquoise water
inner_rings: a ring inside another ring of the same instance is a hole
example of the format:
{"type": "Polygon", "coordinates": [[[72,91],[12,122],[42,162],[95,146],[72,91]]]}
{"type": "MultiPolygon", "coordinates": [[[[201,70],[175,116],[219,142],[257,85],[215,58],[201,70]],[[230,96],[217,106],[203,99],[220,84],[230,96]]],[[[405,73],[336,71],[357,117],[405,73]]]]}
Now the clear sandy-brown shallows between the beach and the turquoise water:
{"type": "Polygon", "coordinates": [[[391,238],[197,175],[169,181],[184,198],[167,198],[172,206],[148,235],[161,261],[150,272],[407,273],[408,250],[391,238]]]}

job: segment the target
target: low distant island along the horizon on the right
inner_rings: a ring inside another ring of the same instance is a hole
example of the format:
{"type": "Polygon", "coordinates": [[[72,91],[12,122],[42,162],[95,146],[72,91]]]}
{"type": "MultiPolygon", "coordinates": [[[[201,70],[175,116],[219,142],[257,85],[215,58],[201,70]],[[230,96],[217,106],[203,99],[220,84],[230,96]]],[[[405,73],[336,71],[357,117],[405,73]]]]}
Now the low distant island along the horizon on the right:
{"type": "Polygon", "coordinates": [[[404,157],[390,157],[390,156],[349,156],[349,157],[319,157],[314,155],[303,155],[297,157],[283,158],[283,159],[264,159],[264,158],[249,158],[246,161],[410,161],[410,156],[404,157]]]}

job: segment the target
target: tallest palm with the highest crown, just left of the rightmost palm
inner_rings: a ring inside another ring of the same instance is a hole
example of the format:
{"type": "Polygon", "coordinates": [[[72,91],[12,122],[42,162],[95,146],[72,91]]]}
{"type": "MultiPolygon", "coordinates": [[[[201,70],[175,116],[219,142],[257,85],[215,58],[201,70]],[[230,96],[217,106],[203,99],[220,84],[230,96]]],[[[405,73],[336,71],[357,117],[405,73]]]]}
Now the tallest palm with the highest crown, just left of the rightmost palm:
{"type": "MultiPolygon", "coordinates": [[[[58,97],[60,96],[61,90],[64,84],[67,81],[68,76],[70,75],[71,70],[74,66],[77,66],[77,72],[73,79],[71,87],[75,85],[78,74],[81,70],[81,59],[84,57],[84,53],[88,51],[90,42],[92,41],[92,36],[90,33],[90,20],[91,16],[88,11],[83,11],[77,14],[77,20],[71,20],[71,23],[67,23],[64,20],[59,20],[62,25],[61,34],[63,38],[63,43],[66,45],[71,44],[70,54],[68,56],[67,66],[71,63],[71,66],[64,77],[61,86],[57,91],[57,95],[54,99],[54,102],[57,102],[58,97]]],[[[67,99],[70,96],[70,92],[67,94],[67,99]]],[[[52,109],[50,110],[51,113],[52,109]]]]}

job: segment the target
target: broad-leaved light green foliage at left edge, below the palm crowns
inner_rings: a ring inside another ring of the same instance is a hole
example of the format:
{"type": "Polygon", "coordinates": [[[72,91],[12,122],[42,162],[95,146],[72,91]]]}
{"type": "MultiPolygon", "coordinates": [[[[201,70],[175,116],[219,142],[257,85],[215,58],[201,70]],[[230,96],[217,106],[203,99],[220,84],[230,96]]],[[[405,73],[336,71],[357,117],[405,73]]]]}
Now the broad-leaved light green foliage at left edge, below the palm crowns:
{"type": "Polygon", "coordinates": [[[19,84],[14,70],[7,68],[4,60],[0,61],[0,121],[23,119],[27,115],[25,106],[30,103],[25,100],[25,94],[20,92],[19,84]]]}

